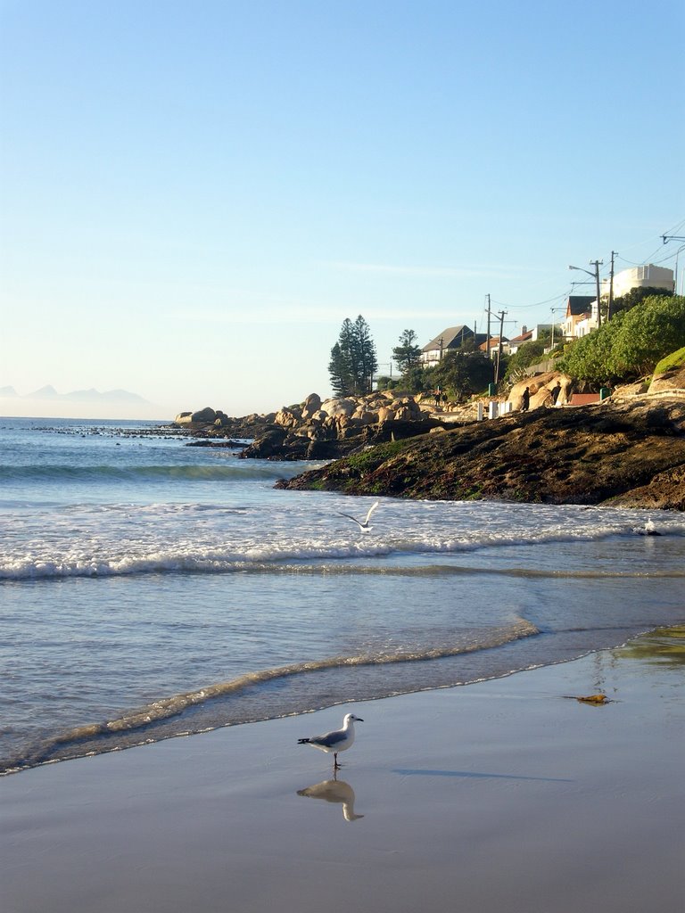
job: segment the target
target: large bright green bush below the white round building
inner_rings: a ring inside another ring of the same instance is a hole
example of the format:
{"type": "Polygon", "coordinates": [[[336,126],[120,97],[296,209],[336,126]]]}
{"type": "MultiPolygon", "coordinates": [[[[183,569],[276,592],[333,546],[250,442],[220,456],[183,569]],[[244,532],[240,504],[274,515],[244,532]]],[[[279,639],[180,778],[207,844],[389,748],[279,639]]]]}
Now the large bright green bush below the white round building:
{"type": "Polygon", "coordinates": [[[578,380],[615,384],[652,373],[662,358],[683,344],[685,297],[652,295],[567,346],[557,363],[578,380]]]}

